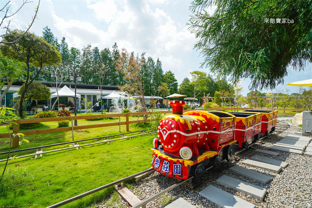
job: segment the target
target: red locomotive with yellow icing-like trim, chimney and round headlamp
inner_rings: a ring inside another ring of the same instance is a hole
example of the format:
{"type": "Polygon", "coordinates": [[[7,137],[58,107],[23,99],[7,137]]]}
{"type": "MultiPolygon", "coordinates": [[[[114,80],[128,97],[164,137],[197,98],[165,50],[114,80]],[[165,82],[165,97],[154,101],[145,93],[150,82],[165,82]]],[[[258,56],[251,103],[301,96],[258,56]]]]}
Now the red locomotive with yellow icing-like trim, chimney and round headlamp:
{"type": "Polygon", "coordinates": [[[183,113],[184,101],[170,101],[173,115],[165,116],[158,126],[158,138],[153,141],[152,167],[159,173],[178,179],[194,175],[200,179],[204,165],[215,168],[221,161],[232,161],[236,117],[220,112],[183,113]]]}

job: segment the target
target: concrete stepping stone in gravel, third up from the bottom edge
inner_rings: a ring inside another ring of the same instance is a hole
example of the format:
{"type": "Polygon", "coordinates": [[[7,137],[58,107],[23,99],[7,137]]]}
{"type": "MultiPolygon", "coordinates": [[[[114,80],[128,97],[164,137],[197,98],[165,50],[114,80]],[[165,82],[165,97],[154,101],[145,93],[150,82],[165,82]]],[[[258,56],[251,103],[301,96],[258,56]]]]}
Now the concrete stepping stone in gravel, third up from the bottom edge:
{"type": "Polygon", "coordinates": [[[260,186],[253,185],[230,176],[223,175],[217,179],[217,182],[220,185],[235,189],[243,194],[250,195],[258,201],[263,201],[264,196],[266,195],[265,188],[261,188],[260,186]]]}

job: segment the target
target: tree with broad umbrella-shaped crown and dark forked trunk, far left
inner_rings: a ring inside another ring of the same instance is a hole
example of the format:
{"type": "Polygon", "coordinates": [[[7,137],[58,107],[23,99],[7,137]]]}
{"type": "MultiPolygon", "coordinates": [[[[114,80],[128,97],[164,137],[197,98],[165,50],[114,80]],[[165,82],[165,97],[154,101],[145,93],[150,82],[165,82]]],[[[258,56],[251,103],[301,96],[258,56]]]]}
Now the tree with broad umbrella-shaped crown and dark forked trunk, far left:
{"type": "MultiPolygon", "coordinates": [[[[24,34],[22,30],[16,30],[3,37],[5,42],[12,42],[24,34]]],[[[42,37],[27,32],[18,42],[0,45],[4,56],[10,57],[26,64],[25,88],[21,93],[18,114],[23,117],[23,100],[28,86],[40,74],[46,65],[56,65],[61,62],[60,53],[42,37]],[[30,64],[38,68],[36,75],[30,79],[30,64]]]]}

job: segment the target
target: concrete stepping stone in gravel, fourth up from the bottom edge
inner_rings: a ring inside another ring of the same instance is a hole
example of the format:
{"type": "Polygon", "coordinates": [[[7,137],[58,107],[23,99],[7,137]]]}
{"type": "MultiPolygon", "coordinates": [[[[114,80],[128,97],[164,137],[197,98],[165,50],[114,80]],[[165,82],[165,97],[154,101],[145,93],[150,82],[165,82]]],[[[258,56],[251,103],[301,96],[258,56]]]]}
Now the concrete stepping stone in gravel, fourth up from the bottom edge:
{"type": "Polygon", "coordinates": [[[229,170],[231,170],[235,173],[238,173],[242,176],[246,176],[248,178],[251,178],[251,179],[258,181],[262,184],[267,184],[269,181],[271,181],[273,179],[270,176],[264,175],[262,173],[259,173],[259,172],[250,170],[248,168],[241,167],[241,166],[233,166],[233,167],[230,167],[229,170]]]}

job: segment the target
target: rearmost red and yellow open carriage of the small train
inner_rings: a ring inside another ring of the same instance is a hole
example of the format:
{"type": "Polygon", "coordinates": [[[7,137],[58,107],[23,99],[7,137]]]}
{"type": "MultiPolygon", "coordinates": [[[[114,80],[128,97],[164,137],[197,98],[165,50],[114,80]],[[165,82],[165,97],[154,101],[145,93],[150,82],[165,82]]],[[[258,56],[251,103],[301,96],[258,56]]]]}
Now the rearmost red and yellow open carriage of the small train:
{"type": "Polygon", "coordinates": [[[249,109],[249,110],[242,110],[239,112],[261,113],[262,114],[262,124],[261,124],[262,134],[267,136],[269,133],[275,131],[278,111],[249,109]]]}

